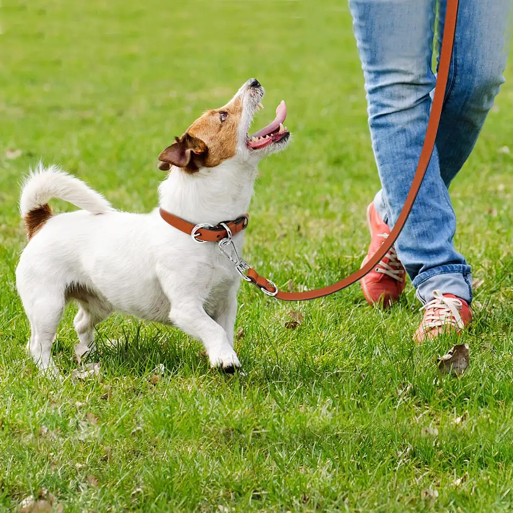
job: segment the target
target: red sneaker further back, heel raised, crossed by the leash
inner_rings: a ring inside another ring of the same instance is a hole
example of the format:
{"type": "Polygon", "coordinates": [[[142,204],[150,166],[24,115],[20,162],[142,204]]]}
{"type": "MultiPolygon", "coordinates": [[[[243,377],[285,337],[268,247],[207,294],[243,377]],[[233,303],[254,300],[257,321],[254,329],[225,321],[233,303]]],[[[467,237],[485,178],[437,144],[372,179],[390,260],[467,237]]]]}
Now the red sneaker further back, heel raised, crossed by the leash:
{"type": "MultiPolygon", "coordinates": [[[[362,267],[384,244],[390,234],[390,228],[376,212],[374,203],[367,207],[367,223],[371,239],[362,267]]],[[[379,303],[383,308],[387,308],[399,300],[399,296],[406,286],[406,270],[397,258],[393,246],[383,260],[380,260],[379,264],[360,280],[360,284],[369,305],[379,303]]]]}

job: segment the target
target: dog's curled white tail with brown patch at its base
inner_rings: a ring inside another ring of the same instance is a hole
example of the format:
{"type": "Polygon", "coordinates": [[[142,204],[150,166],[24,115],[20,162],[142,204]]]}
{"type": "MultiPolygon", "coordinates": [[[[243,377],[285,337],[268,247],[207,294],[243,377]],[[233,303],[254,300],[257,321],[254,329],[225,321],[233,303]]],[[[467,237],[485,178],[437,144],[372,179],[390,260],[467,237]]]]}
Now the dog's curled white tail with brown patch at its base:
{"type": "Polygon", "coordinates": [[[89,188],[82,180],[65,173],[58,166],[45,169],[40,163],[25,180],[19,198],[19,211],[29,239],[51,218],[52,209],[48,202],[52,198],[67,201],[95,214],[112,210],[102,194],[89,188]]]}

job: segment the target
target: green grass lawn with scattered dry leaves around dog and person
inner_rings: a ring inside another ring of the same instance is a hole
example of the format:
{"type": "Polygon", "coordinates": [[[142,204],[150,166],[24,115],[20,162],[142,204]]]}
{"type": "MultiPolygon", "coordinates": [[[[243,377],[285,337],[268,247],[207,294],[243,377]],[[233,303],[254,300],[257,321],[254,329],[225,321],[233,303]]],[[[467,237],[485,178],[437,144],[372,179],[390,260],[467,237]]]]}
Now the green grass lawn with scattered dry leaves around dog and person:
{"type": "MultiPolygon", "coordinates": [[[[40,488],[72,512],[513,508],[513,161],[499,151],[511,85],[451,188],[458,248],[485,280],[461,379],[436,370],[453,340],[411,342],[411,285],[381,312],[358,286],[288,304],[243,284],[244,375],[210,370],[178,330],[114,316],[98,327],[101,382],[57,385],[27,359],[14,286],[29,166],[62,164],[117,208],[147,211],[157,154],[257,76],[257,123],[284,98],[294,140],[262,163],[245,256],[280,286],[322,286],[358,268],[368,242],[379,180],[363,78],[336,0],[7,0],[0,22],[0,510],[40,488]],[[291,309],[297,329],[284,326],[291,309]]],[[[66,376],[73,314],[54,345],[66,376]]]]}

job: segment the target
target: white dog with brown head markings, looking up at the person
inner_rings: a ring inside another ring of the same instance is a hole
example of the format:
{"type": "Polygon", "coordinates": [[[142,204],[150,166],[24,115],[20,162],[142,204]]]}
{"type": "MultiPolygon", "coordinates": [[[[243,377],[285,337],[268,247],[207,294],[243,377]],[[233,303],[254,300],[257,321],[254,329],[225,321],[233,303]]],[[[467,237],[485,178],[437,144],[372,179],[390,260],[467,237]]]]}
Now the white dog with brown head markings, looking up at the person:
{"type": "MultiPolygon", "coordinates": [[[[249,137],[264,93],[250,78],[226,105],[206,111],[162,151],[159,167],[169,173],[159,187],[160,208],[211,225],[247,212],[259,162],[290,139],[284,102],[277,118],[249,137]]],[[[96,324],[119,311],[173,324],[201,340],[212,367],[240,367],[233,350],[240,274],[217,244],[198,244],[167,224],[159,208],[143,214],[115,210],[56,166],[40,164],[29,175],[19,208],[29,242],[16,268],[16,287],[30,322],[27,348],[40,370],[58,376],[51,346],[73,300],[82,353],[94,347],[96,324]],[[54,215],[52,198],[81,210],[54,215]]],[[[232,239],[239,254],[243,238],[240,232],[232,239]]]]}

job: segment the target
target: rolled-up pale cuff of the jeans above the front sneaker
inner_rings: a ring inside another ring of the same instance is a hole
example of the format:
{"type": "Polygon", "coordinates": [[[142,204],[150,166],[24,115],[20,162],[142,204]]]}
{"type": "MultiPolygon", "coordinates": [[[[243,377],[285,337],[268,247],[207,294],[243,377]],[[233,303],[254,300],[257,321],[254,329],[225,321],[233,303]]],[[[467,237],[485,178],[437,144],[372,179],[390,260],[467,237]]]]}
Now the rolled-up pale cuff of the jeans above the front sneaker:
{"type": "Polygon", "coordinates": [[[472,275],[469,265],[448,264],[433,267],[418,274],[412,283],[417,289],[417,298],[423,304],[433,299],[433,290],[456,295],[468,304],[472,302],[472,275]]]}

